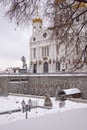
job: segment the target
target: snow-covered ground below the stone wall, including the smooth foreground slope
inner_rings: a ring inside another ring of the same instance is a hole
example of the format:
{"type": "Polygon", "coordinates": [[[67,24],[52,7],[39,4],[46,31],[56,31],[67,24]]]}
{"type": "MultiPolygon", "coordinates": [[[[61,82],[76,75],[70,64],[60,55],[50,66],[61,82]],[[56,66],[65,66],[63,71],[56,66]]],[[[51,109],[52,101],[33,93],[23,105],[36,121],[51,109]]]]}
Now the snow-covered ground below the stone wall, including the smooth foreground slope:
{"type": "MultiPolygon", "coordinates": [[[[22,100],[29,99],[34,105],[43,105],[44,99],[8,96],[0,97],[0,112],[21,108],[22,100]]],[[[0,115],[0,130],[87,130],[87,104],[66,100],[63,108],[52,98],[52,109],[34,108],[25,113],[0,115]]]]}

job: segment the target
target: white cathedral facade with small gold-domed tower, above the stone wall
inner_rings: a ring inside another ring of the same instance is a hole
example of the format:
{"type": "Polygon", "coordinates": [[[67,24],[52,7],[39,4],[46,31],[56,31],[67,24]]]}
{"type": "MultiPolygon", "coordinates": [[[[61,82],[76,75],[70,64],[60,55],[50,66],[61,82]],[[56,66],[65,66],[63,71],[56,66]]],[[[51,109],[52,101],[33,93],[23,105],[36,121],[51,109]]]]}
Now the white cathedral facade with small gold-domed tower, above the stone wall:
{"type": "Polygon", "coordinates": [[[30,73],[70,72],[80,54],[80,47],[77,44],[66,46],[64,42],[59,44],[51,30],[43,29],[43,21],[39,17],[32,20],[32,27],[30,73]]]}

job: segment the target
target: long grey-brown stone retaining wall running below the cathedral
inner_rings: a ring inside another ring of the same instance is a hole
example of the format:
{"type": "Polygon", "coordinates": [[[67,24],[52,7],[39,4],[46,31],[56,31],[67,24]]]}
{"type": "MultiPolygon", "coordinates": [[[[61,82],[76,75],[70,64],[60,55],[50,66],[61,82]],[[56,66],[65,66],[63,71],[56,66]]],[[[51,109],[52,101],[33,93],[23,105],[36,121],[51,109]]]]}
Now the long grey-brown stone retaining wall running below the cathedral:
{"type": "Polygon", "coordinates": [[[87,98],[87,75],[8,75],[0,77],[0,95],[9,93],[55,96],[57,87],[79,88],[87,98]]]}

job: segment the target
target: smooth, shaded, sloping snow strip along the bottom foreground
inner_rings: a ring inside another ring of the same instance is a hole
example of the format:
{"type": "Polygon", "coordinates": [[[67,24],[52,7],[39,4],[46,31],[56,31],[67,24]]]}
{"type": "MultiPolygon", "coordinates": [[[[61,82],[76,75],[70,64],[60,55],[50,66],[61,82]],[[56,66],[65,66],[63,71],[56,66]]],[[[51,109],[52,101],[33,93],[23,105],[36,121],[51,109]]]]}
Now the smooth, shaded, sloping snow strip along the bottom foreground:
{"type": "Polygon", "coordinates": [[[0,130],[87,130],[87,108],[15,121],[0,130]]]}

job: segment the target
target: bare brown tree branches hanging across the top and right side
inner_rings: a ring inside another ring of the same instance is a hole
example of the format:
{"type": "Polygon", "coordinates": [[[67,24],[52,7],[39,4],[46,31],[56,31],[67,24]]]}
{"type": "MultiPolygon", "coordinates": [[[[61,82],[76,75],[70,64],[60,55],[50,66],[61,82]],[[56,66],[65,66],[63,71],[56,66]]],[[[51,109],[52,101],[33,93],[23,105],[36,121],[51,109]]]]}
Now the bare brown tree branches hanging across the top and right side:
{"type": "MultiPolygon", "coordinates": [[[[57,41],[59,39],[60,43],[65,42],[66,46],[70,45],[70,51],[72,43],[80,44],[78,40],[73,41],[73,37],[78,39],[83,32],[84,39],[86,39],[83,30],[87,24],[87,0],[0,0],[0,5],[6,9],[6,16],[10,20],[16,21],[17,25],[29,24],[31,19],[36,16],[38,6],[40,16],[49,19],[48,29],[53,31],[55,39],[57,41]]],[[[81,53],[78,55],[73,70],[77,70],[87,63],[87,47],[85,43],[82,42],[82,44],[84,49],[80,50],[81,53]]],[[[73,51],[70,55],[72,53],[73,51]]]]}

